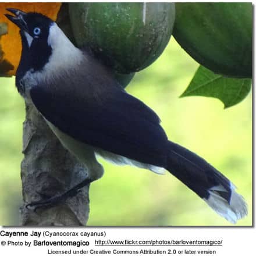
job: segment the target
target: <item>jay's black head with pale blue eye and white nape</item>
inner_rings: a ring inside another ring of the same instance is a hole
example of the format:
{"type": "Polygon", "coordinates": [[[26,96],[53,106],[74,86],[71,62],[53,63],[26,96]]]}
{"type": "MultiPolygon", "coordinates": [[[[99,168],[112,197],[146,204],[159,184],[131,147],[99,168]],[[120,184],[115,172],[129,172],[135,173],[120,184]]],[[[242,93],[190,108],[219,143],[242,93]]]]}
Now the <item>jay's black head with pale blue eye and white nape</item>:
{"type": "Polygon", "coordinates": [[[49,62],[52,62],[51,68],[52,65],[56,68],[67,62],[70,63],[77,48],[53,20],[41,13],[26,13],[13,8],[7,10],[14,16],[9,14],[5,16],[20,28],[22,61],[27,70],[41,70],[47,67],[49,62]]]}

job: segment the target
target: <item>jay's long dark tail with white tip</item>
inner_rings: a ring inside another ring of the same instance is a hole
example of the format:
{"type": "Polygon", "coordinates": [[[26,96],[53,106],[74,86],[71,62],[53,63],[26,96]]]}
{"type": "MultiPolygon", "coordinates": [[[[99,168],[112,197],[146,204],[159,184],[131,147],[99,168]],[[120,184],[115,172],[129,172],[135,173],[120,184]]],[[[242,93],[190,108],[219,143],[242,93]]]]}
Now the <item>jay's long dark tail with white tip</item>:
{"type": "Polygon", "coordinates": [[[166,168],[227,221],[247,215],[247,204],[236,187],[198,155],[169,141],[166,168]]]}

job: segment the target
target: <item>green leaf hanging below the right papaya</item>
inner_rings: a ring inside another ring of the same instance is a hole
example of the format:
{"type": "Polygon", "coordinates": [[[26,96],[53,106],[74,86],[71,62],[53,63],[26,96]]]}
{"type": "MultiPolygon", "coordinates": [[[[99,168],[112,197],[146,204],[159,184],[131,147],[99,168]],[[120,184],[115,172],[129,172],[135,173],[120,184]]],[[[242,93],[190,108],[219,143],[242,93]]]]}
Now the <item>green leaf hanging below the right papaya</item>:
{"type": "Polygon", "coordinates": [[[234,79],[198,67],[189,86],[180,97],[205,96],[220,99],[225,108],[242,101],[251,90],[251,79],[234,79]]]}

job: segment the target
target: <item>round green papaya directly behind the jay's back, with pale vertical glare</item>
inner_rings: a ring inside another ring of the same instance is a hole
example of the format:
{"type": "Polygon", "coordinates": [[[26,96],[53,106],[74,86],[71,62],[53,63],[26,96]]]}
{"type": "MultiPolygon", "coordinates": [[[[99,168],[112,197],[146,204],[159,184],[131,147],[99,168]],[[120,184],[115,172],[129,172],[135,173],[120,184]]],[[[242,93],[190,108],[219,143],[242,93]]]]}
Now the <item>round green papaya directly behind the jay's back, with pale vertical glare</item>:
{"type": "Polygon", "coordinates": [[[172,34],[174,3],[69,3],[79,47],[90,45],[121,74],[137,72],[161,55],[172,34]]]}

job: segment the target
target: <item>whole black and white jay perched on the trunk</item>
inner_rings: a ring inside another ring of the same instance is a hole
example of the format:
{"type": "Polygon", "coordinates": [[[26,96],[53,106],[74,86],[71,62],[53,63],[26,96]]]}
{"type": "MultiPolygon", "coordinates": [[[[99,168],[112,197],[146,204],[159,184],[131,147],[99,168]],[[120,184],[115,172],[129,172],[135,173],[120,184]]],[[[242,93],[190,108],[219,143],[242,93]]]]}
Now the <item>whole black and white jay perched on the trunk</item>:
{"type": "Polygon", "coordinates": [[[40,13],[8,11],[14,16],[6,17],[20,28],[22,38],[17,90],[89,170],[88,178],[65,194],[30,206],[72,196],[99,179],[104,172],[99,155],[159,174],[168,170],[227,221],[236,223],[247,215],[246,202],[232,182],[168,140],[157,114],[126,93],[93,55],[76,48],[55,22],[40,13]]]}

